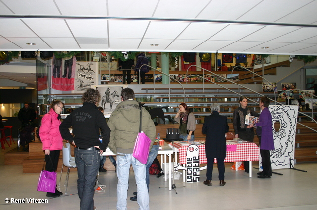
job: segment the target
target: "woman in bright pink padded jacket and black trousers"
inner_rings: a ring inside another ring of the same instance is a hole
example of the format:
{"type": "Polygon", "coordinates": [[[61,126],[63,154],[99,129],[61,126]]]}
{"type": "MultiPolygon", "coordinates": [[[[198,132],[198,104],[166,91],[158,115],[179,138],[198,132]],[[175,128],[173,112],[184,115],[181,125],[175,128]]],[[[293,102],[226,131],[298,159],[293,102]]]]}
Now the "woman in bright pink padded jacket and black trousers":
{"type": "MultiPolygon", "coordinates": [[[[45,114],[41,121],[39,134],[45,153],[45,170],[50,172],[57,170],[60,150],[63,148],[63,138],[59,132],[59,119],[63,107],[63,102],[53,100],[49,113],[45,114]]],[[[46,193],[46,196],[55,198],[62,194],[56,188],[55,193],[46,193]]]]}

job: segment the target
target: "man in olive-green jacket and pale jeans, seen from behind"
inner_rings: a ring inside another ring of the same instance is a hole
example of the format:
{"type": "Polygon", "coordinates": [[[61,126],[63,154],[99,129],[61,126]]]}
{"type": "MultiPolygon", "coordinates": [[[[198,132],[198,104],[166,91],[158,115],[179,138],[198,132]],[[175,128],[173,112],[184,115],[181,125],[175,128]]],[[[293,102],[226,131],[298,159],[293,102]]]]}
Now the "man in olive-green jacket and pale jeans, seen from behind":
{"type": "Polygon", "coordinates": [[[137,184],[139,210],[149,210],[149,192],[146,184],[146,165],[132,156],[135,140],[139,132],[140,120],[142,131],[151,139],[149,151],[155,141],[156,129],[151,116],[144,107],[140,119],[139,103],[134,100],[134,91],[122,89],[122,102],[112,112],[108,125],[111,129],[109,148],[117,154],[117,210],[127,209],[127,190],[129,187],[130,165],[137,184]]]}

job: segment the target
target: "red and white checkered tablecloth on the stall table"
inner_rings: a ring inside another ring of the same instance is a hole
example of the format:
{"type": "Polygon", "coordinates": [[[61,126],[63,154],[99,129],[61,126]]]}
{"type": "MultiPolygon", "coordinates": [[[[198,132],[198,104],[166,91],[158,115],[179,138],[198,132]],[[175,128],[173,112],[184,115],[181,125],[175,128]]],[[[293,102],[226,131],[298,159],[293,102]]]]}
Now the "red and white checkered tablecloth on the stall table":
{"type": "MultiPolygon", "coordinates": [[[[253,142],[244,143],[230,143],[230,145],[237,145],[237,150],[234,152],[227,151],[227,157],[224,162],[236,162],[236,161],[258,161],[259,160],[259,147],[253,142]]],[[[178,149],[179,163],[186,164],[186,152],[189,145],[182,145],[178,142],[174,142],[173,146],[178,149]]],[[[205,145],[197,145],[199,148],[199,163],[207,164],[207,158],[205,154],[205,145]]],[[[214,159],[216,163],[216,159],[214,159]]]]}

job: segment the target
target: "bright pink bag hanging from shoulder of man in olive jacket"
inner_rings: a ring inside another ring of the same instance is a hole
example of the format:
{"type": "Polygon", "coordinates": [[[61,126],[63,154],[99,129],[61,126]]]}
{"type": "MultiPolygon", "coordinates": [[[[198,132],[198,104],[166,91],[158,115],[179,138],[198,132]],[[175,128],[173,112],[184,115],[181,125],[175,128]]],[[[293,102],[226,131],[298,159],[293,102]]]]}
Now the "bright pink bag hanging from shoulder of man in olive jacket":
{"type": "Polygon", "coordinates": [[[151,145],[151,139],[141,131],[142,123],[142,109],[140,107],[140,128],[137,138],[135,140],[132,156],[136,158],[140,163],[146,164],[149,156],[149,149],[151,145]]]}

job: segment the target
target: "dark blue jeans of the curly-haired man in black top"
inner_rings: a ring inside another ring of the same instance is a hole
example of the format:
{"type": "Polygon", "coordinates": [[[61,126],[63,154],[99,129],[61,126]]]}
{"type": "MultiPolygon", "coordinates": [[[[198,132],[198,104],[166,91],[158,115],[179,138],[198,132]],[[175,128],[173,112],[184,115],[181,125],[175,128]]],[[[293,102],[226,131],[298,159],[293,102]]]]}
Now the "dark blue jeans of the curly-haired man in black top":
{"type": "Polygon", "coordinates": [[[77,165],[77,190],[80,199],[80,210],[94,209],[94,193],[97,172],[100,166],[99,150],[75,148],[77,165]]]}

